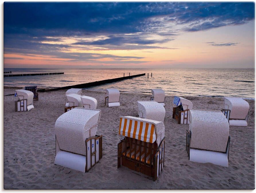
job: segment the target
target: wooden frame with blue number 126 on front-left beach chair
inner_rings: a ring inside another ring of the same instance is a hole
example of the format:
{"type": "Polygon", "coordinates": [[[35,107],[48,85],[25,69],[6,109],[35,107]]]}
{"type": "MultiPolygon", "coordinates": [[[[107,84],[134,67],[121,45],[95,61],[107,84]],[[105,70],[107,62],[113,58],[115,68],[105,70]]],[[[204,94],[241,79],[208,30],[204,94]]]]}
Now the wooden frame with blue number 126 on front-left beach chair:
{"type": "MultiPolygon", "coordinates": [[[[85,147],[87,150],[85,172],[88,172],[102,158],[102,136],[103,135],[95,135],[85,140],[85,147]]],[[[56,156],[57,153],[60,151],[60,147],[59,147],[56,135],[55,135],[55,146],[56,146],[56,149],[55,149],[55,156],[56,156]]]]}

